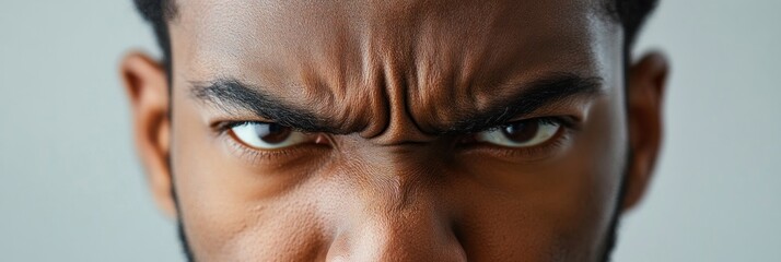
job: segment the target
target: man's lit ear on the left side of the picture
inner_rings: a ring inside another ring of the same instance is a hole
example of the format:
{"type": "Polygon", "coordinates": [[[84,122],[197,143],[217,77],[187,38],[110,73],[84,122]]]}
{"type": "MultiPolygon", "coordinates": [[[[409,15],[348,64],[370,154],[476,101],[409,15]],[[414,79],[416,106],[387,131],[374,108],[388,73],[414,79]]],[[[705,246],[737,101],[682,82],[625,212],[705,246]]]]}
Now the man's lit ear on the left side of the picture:
{"type": "Polygon", "coordinates": [[[123,59],[120,74],[132,107],[136,147],[158,206],[174,217],[174,203],[168,150],[168,85],[165,69],[142,53],[123,59]]]}

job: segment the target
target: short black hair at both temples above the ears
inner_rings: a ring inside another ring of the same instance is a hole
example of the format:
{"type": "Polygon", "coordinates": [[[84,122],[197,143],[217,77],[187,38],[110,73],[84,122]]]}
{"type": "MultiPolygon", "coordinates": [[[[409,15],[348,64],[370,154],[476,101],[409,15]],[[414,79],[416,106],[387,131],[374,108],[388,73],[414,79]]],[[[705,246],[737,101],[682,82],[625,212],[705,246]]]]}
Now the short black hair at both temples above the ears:
{"type": "MultiPolygon", "coordinates": [[[[162,62],[171,72],[171,37],[167,21],[176,15],[174,0],[133,0],[144,20],[152,25],[158,44],[163,51],[162,62]]],[[[648,16],[656,8],[658,0],[607,0],[608,13],[621,24],[625,34],[623,53],[629,55],[634,40],[648,16]]]]}

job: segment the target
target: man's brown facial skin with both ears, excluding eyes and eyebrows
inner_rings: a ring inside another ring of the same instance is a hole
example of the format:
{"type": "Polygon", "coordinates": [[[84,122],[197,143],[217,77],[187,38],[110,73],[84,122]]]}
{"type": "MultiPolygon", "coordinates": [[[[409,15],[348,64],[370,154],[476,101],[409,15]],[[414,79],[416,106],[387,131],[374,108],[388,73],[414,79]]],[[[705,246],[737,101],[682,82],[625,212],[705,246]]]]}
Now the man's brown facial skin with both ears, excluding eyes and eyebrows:
{"type": "Polygon", "coordinates": [[[177,7],[173,104],[154,60],[128,55],[121,72],[152,191],[198,261],[598,261],[649,183],[667,63],[648,55],[625,83],[602,1],[177,7]],[[599,88],[512,116],[573,122],[541,144],[443,132],[562,74],[599,88]],[[219,127],[278,119],[194,95],[221,79],[339,132],[253,148],[219,127]]]}

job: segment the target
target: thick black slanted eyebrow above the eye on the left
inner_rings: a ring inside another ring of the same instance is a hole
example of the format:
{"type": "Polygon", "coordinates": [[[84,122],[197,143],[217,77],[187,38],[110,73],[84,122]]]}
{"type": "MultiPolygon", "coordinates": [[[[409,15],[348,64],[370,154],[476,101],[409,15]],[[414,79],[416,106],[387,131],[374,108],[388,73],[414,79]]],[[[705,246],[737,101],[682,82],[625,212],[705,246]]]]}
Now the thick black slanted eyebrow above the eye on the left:
{"type": "Polygon", "coordinates": [[[235,114],[249,110],[258,117],[305,132],[345,133],[331,127],[314,112],[290,105],[235,79],[219,79],[211,82],[191,82],[190,94],[219,109],[235,114]]]}

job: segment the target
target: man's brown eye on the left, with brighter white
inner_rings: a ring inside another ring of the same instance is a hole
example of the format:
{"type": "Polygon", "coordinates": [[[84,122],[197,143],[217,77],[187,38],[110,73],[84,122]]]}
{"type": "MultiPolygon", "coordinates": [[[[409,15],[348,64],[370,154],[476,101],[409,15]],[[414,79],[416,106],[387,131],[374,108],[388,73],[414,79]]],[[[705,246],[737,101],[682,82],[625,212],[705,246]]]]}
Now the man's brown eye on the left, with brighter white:
{"type": "Polygon", "coordinates": [[[273,122],[238,122],[229,133],[242,144],[256,150],[278,150],[306,142],[307,135],[273,122]]]}

